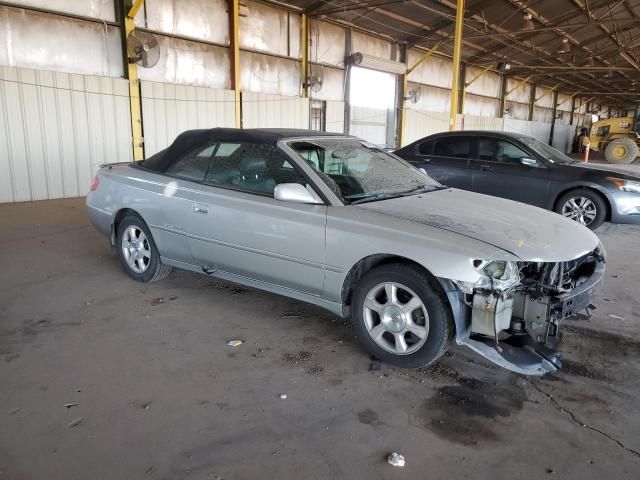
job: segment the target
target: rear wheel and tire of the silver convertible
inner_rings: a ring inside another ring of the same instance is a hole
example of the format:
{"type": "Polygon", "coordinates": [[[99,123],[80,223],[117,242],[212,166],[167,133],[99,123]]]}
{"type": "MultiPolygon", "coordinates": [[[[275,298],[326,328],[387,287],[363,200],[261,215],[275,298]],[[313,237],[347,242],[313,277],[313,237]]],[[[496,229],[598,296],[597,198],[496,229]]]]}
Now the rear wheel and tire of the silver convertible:
{"type": "Polygon", "coordinates": [[[155,282],[171,273],[164,265],[147,224],[138,215],[127,215],[118,225],[116,242],[120,263],[138,282],[155,282]]]}

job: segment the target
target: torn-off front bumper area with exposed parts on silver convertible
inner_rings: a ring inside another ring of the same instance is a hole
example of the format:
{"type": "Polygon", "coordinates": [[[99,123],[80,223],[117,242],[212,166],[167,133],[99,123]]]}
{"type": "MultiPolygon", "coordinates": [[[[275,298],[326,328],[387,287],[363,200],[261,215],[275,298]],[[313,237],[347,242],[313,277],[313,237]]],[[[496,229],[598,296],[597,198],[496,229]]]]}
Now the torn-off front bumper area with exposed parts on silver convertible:
{"type": "Polygon", "coordinates": [[[510,292],[464,293],[455,282],[441,280],[453,309],[456,343],[508,370],[543,375],[558,370],[556,351],[561,322],[589,311],[603,287],[605,261],[588,257],[593,271],[569,291],[533,294],[532,289],[510,292]]]}

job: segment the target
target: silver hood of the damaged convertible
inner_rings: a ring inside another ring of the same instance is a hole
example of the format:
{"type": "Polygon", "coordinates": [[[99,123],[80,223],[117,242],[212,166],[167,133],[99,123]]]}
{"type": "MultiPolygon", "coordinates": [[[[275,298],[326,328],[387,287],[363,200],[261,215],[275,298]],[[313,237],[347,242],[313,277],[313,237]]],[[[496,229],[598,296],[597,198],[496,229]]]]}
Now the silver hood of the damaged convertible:
{"type": "Polygon", "coordinates": [[[356,207],[465,235],[532,262],[573,260],[599,243],[591,230],[556,213],[454,188],[356,207]]]}

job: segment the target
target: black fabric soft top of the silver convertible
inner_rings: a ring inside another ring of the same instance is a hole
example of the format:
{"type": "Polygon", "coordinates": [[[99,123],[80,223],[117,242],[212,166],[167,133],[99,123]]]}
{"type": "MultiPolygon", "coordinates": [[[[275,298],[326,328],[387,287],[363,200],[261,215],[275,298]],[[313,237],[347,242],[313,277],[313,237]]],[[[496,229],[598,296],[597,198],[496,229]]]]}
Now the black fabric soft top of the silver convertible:
{"type": "MultiPolygon", "coordinates": [[[[187,130],[176,137],[171,145],[155,155],[138,162],[149,170],[164,172],[184,152],[206,145],[212,140],[237,143],[264,143],[274,145],[283,138],[345,136],[342,133],[318,132],[316,130],[288,128],[208,128],[187,130]]],[[[346,137],[346,136],[345,136],[346,137]]]]}

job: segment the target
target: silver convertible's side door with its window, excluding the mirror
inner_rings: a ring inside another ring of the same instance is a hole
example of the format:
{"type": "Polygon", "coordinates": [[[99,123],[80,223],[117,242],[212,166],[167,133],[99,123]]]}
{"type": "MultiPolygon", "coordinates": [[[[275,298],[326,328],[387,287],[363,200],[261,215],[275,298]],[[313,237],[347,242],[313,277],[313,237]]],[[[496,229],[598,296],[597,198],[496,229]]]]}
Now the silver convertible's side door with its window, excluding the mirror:
{"type": "Polygon", "coordinates": [[[197,265],[321,295],[327,207],[273,198],[304,177],[265,144],[219,144],[204,184],[194,187],[190,246],[197,265]]]}

